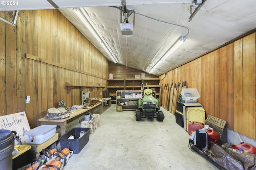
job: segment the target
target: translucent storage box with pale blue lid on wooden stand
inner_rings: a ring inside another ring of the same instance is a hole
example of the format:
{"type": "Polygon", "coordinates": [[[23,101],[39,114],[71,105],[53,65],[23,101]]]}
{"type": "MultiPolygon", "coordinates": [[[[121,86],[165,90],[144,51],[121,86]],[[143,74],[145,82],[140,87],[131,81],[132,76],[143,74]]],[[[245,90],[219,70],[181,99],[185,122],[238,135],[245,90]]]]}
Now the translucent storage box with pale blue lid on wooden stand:
{"type": "Polygon", "coordinates": [[[56,125],[41,125],[24,133],[27,144],[42,144],[56,134],[56,125]]]}

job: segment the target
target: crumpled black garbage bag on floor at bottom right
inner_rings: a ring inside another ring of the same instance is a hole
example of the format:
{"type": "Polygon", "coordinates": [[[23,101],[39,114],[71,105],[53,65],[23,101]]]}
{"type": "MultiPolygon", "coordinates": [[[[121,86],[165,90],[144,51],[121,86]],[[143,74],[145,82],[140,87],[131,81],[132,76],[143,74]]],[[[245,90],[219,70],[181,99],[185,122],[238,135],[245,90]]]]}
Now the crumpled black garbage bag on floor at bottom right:
{"type": "Polygon", "coordinates": [[[214,144],[208,157],[226,170],[255,170],[256,154],[214,144]]]}

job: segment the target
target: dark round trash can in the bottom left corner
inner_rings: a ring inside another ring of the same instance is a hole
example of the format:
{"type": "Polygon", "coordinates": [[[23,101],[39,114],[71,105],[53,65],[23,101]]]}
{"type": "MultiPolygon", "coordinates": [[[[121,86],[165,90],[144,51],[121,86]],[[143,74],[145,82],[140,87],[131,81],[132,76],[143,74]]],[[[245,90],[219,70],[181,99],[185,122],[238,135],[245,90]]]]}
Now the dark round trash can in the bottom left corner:
{"type": "Polygon", "coordinates": [[[10,130],[0,130],[0,169],[12,170],[12,151],[14,150],[14,135],[10,130]]]}

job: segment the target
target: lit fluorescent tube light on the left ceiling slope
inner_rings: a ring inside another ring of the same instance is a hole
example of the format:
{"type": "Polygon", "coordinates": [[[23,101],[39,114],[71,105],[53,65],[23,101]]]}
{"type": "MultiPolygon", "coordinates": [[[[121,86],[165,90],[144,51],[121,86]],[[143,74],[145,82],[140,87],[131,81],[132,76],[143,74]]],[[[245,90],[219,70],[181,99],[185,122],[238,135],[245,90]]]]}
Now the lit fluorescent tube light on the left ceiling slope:
{"type": "Polygon", "coordinates": [[[97,41],[100,43],[100,45],[102,45],[102,47],[104,48],[104,50],[108,53],[108,55],[111,57],[112,61],[114,61],[114,63],[116,62],[116,59],[113,57],[113,55],[110,53],[109,49],[106,47],[105,43],[102,41],[102,39],[99,37],[99,35],[96,33],[96,31],[92,28],[92,26],[88,23],[88,21],[84,18],[84,16],[81,14],[80,11],[78,11],[77,8],[74,8],[74,12],[76,13],[76,15],[80,18],[80,20],[84,23],[84,25],[86,25],[86,27],[90,30],[90,32],[92,33],[92,35],[94,35],[94,37],[97,39],[97,41]]]}

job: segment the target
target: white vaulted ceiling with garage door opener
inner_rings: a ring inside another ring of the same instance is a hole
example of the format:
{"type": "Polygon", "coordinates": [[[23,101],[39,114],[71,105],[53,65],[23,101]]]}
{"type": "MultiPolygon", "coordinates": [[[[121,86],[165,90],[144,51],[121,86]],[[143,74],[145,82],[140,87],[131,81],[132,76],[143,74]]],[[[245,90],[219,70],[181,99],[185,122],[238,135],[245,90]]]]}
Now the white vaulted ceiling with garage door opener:
{"type": "Polygon", "coordinates": [[[19,3],[2,5],[4,8],[0,10],[58,8],[109,61],[124,65],[124,69],[127,66],[155,75],[188,63],[256,28],[255,0],[23,0],[19,3]],[[132,23],[132,36],[122,35],[120,23],[132,23]],[[181,37],[185,37],[184,43],[162,61],[181,37]]]}

